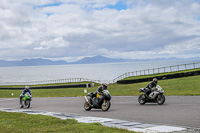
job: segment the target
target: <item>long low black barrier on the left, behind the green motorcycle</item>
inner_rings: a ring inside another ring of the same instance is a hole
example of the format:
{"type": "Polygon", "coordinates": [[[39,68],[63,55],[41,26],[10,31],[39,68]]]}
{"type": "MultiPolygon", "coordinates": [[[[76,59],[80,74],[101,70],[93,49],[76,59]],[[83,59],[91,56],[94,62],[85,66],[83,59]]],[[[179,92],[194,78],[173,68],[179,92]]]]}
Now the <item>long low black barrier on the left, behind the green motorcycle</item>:
{"type": "MultiPolygon", "coordinates": [[[[70,85],[54,85],[54,86],[34,86],[30,89],[55,89],[55,88],[82,88],[82,87],[94,87],[94,83],[87,84],[70,84],[70,85]]],[[[12,90],[22,90],[24,87],[14,88],[14,87],[0,87],[0,89],[12,89],[12,90]]]]}

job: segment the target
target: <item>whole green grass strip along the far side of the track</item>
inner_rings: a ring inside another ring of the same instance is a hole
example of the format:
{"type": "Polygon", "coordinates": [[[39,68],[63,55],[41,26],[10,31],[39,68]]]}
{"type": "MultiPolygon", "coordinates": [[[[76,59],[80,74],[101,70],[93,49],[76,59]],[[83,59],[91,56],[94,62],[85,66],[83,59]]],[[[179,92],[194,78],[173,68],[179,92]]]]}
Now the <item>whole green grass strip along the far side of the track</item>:
{"type": "MultiPolygon", "coordinates": [[[[176,79],[159,80],[158,84],[164,89],[165,95],[200,95],[200,75],[176,79]]],[[[112,96],[139,95],[139,88],[144,88],[149,82],[135,84],[109,84],[108,90],[112,96]]],[[[94,92],[99,84],[90,88],[63,89],[32,89],[33,97],[78,97],[84,96],[84,89],[94,92]]],[[[0,89],[0,98],[19,97],[22,90],[0,89]],[[14,93],[14,96],[11,96],[14,93]]]]}

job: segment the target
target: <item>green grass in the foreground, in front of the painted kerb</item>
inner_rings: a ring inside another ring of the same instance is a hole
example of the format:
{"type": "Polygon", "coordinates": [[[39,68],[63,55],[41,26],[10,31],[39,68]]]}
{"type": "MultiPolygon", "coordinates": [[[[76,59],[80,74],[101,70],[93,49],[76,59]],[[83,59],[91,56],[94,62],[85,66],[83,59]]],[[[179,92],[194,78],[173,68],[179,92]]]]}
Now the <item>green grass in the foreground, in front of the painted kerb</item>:
{"type": "Polygon", "coordinates": [[[99,123],[78,123],[74,119],[61,120],[43,115],[0,111],[0,133],[130,133],[131,131],[104,127],[99,123]]]}

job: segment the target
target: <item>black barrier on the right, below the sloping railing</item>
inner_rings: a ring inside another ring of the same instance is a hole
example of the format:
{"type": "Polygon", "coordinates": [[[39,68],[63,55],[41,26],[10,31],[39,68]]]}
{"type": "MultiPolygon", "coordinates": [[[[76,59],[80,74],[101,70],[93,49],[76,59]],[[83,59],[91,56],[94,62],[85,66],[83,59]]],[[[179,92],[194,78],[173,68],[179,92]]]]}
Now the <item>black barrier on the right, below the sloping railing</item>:
{"type": "Polygon", "coordinates": [[[157,78],[158,80],[164,80],[164,79],[182,78],[182,77],[195,76],[195,75],[200,75],[200,70],[185,72],[185,73],[175,73],[175,74],[169,74],[169,75],[164,75],[164,76],[156,76],[156,77],[151,77],[151,78],[119,80],[117,81],[117,84],[132,84],[132,83],[139,83],[139,82],[147,82],[147,81],[152,81],[153,78],[157,78]]]}

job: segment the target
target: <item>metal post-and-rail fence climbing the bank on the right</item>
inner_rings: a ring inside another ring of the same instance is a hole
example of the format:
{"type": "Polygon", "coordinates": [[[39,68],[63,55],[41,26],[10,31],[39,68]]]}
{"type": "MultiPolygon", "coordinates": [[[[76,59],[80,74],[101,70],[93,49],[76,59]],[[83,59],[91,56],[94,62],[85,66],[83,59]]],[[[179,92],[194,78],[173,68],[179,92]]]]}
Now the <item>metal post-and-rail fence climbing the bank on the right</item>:
{"type": "Polygon", "coordinates": [[[140,70],[140,71],[134,71],[134,72],[127,72],[113,79],[113,83],[116,83],[118,80],[122,80],[124,78],[133,77],[133,76],[158,74],[158,73],[165,73],[165,72],[175,72],[175,71],[182,71],[182,70],[195,69],[195,68],[200,68],[200,62],[160,67],[160,68],[152,68],[152,69],[146,69],[146,70],[140,70]]]}

